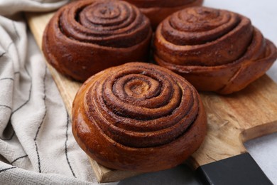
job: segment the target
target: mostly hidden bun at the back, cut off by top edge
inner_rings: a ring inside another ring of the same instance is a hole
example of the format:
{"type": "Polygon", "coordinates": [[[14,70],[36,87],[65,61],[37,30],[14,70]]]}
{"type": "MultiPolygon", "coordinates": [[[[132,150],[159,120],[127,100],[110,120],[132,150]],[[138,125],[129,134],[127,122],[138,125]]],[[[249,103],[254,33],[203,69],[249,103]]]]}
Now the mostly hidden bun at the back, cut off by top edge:
{"type": "Polygon", "coordinates": [[[141,12],[148,16],[152,28],[155,29],[163,19],[175,11],[190,6],[200,6],[203,0],[126,0],[139,7],[141,12]]]}

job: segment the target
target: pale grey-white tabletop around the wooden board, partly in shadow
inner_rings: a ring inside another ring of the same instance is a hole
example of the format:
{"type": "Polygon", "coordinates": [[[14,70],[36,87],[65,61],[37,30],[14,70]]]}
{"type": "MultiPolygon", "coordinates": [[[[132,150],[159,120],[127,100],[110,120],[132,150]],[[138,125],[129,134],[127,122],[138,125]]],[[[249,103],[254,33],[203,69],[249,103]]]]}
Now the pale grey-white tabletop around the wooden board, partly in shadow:
{"type": "MultiPolygon", "coordinates": [[[[227,9],[249,17],[252,24],[277,45],[276,0],[205,0],[204,6],[227,9]]],[[[267,74],[277,83],[277,61],[267,74]]],[[[277,133],[246,142],[245,146],[273,184],[277,184],[277,133]]],[[[188,166],[180,165],[174,169],[125,179],[119,184],[178,185],[198,182],[188,166]]]]}

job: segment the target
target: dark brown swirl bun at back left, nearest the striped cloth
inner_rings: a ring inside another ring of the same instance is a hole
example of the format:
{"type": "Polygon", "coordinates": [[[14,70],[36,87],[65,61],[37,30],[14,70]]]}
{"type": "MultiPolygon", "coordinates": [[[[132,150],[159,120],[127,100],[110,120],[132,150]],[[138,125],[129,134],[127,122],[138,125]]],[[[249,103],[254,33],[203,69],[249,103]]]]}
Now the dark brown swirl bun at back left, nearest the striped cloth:
{"type": "Polygon", "coordinates": [[[43,53],[60,73],[84,81],[100,70],[148,59],[148,18],[125,1],[75,1],[60,9],[43,35],[43,53]]]}

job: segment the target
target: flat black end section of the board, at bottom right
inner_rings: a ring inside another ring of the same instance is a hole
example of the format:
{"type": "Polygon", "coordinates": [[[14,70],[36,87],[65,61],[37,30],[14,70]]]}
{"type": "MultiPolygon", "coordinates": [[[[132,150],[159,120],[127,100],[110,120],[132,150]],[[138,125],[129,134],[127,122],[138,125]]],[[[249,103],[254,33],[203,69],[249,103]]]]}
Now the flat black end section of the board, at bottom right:
{"type": "Polygon", "coordinates": [[[200,166],[196,175],[202,184],[273,184],[249,153],[200,166]]]}

